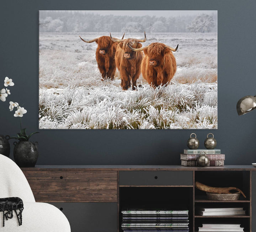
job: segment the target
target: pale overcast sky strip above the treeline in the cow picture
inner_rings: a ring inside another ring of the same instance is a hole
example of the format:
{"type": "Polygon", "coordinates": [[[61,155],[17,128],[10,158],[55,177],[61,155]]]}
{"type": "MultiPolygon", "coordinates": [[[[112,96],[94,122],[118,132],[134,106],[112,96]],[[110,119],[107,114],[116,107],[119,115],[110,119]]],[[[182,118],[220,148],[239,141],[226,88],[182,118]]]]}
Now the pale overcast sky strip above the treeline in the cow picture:
{"type": "Polygon", "coordinates": [[[175,16],[185,16],[185,15],[199,15],[202,13],[217,15],[217,11],[86,11],[91,13],[97,13],[100,15],[130,15],[130,16],[164,16],[164,17],[175,17],[175,16]]]}

